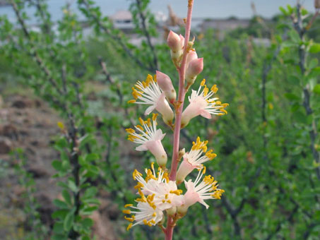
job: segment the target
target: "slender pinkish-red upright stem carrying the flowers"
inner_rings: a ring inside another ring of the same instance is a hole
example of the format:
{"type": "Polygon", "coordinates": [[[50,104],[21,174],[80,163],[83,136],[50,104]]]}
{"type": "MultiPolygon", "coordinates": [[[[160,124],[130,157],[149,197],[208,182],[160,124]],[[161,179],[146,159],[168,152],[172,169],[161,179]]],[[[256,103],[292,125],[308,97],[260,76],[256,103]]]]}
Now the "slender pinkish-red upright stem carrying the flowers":
{"type": "MultiPolygon", "coordinates": [[[[186,55],[188,54],[188,42],[191,30],[191,15],[192,7],[194,6],[194,0],[188,0],[188,13],[186,15],[186,32],[184,35],[184,52],[182,56],[182,63],[177,69],[179,72],[179,95],[177,106],[175,109],[175,122],[174,122],[174,133],[173,133],[173,152],[172,152],[172,163],[170,170],[170,180],[175,181],[177,175],[177,167],[179,162],[179,141],[180,141],[180,130],[181,130],[181,119],[182,110],[184,107],[184,97],[186,95],[186,90],[184,89],[184,78],[186,74],[186,55]]],[[[175,221],[172,217],[168,216],[167,228],[165,229],[165,240],[172,240],[173,229],[175,221]]]]}

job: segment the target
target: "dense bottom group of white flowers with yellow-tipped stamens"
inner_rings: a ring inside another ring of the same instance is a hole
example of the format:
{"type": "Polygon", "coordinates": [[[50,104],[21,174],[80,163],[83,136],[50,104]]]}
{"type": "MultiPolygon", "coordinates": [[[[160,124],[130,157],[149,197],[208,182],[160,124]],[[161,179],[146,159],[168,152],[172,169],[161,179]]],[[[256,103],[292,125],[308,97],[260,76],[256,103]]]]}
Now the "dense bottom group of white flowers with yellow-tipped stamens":
{"type": "Polygon", "coordinates": [[[164,172],[160,167],[158,172],[155,172],[153,163],[151,169],[145,169],[146,176],[144,178],[143,174],[134,170],[133,178],[138,181],[134,188],[138,191],[139,197],[136,198],[136,206],[133,204],[124,206],[124,208],[131,208],[123,210],[124,214],[131,215],[124,217],[130,222],[127,229],[129,230],[136,224],[145,224],[150,227],[161,224],[165,210],[168,215],[174,215],[176,212],[179,212],[179,215],[184,215],[189,206],[197,202],[208,208],[209,206],[204,200],[220,199],[224,191],[217,188],[217,181],[213,176],[208,175],[202,179],[205,172],[205,169],[200,170],[194,182],[185,181],[187,191],[182,195],[183,191],[177,188],[176,181],[170,181],[167,172],[164,172]]]}

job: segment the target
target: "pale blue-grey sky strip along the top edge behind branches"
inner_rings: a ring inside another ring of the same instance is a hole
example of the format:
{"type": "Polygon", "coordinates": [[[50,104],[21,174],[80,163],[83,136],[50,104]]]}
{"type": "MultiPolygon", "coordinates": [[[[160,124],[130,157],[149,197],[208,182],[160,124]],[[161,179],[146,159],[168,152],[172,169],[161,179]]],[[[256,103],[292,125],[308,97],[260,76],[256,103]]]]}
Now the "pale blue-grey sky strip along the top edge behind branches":
{"type": "MultiPolygon", "coordinates": [[[[49,0],[49,11],[54,20],[61,17],[61,6],[64,6],[67,0],[49,0]]],[[[76,0],[73,2],[76,8],[76,0]]],[[[125,10],[129,7],[132,0],[95,0],[102,12],[106,15],[112,15],[116,11],[125,10]]],[[[256,11],[259,15],[270,18],[279,13],[279,6],[295,4],[297,0],[194,0],[194,14],[196,18],[228,18],[236,16],[238,18],[250,18],[253,13],[250,7],[251,1],[256,5],[256,11]]],[[[170,4],[178,16],[186,15],[187,0],[150,0],[150,8],[153,12],[162,11],[167,15],[167,5],[170,4]]],[[[314,0],[300,0],[305,8],[314,11],[314,0]]],[[[13,12],[9,7],[0,8],[0,16],[7,14],[13,18],[13,12]]]]}

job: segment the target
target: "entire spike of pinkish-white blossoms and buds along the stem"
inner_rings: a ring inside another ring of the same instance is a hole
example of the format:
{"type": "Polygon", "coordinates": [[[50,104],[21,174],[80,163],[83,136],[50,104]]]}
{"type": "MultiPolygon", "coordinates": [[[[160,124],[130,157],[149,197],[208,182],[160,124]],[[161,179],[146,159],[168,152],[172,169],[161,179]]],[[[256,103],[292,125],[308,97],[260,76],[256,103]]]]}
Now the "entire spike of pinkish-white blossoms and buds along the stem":
{"type": "MultiPolygon", "coordinates": [[[[217,156],[213,150],[208,150],[208,140],[201,140],[200,137],[196,138],[191,149],[186,152],[184,149],[179,151],[179,141],[177,141],[179,138],[176,138],[176,136],[181,128],[186,127],[191,119],[198,115],[211,119],[212,115],[227,114],[225,108],[228,104],[221,103],[215,96],[218,91],[217,86],[213,85],[209,89],[206,80],[203,79],[198,90],[191,90],[191,95],[188,97],[189,105],[183,110],[182,103],[185,94],[203,70],[203,59],[199,59],[196,50],[192,48],[194,42],[187,42],[186,44],[182,35],[177,35],[171,31],[167,38],[167,44],[171,50],[174,66],[177,67],[178,71],[183,71],[183,69],[185,71],[185,81],[180,81],[180,83],[184,83],[184,89],[179,89],[178,100],[171,78],[165,73],[156,71],[155,76],[148,75],[146,80],[138,81],[134,85],[134,88],[132,88],[134,100],[130,100],[129,103],[147,105],[146,115],[157,111],[165,124],[172,128],[174,141],[176,141],[174,144],[178,144],[177,151],[172,155],[172,166],[175,166],[175,168],[167,169],[167,152],[162,145],[165,133],[162,133],[158,126],[158,114],[153,113],[153,116],[146,120],[139,118],[140,124],[134,126],[134,128],[126,129],[129,133],[128,139],[138,145],[136,150],[149,151],[155,157],[159,166],[156,171],[152,163],[150,169],[145,169],[144,174],[141,174],[138,170],[134,171],[133,178],[137,181],[134,188],[138,198],[136,198],[135,205],[127,204],[124,206],[126,208],[123,210],[126,214],[125,219],[130,222],[127,229],[137,224],[148,226],[158,224],[162,227],[166,216],[168,217],[168,223],[169,219],[175,222],[184,217],[191,205],[201,203],[208,208],[209,205],[205,201],[220,199],[224,192],[218,188],[218,183],[213,176],[203,176],[206,173],[206,167],[203,164],[217,156]],[[182,66],[185,68],[182,68],[182,66]],[[183,98],[181,98],[180,91],[183,92],[183,98]],[[179,121],[177,120],[178,116],[179,121]],[[178,167],[180,160],[182,161],[178,167]],[[196,179],[194,181],[192,179],[186,180],[186,177],[194,169],[198,170],[196,179]],[[169,172],[170,174],[168,174],[169,172]],[[183,182],[186,188],[185,192],[178,188],[179,184],[183,182]]],[[[181,88],[181,85],[179,88],[181,88]]],[[[164,232],[168,233],[169,231],[166,232],[165,230],[164,232]]]]}

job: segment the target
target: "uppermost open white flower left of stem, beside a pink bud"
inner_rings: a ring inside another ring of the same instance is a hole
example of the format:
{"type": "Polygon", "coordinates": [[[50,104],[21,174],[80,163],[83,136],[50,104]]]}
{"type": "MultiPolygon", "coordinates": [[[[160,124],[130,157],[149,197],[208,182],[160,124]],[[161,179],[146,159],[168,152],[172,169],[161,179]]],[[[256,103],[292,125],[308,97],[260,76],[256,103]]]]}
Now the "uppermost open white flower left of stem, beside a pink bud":
{"type": "Polygon", "coordinates": [[[134,100],[130,100],[129,103],[150,105],[150,107],[146,109],[145,114],[148,115],[155,109],[160,112],[163,121],[171,126],[173,112],[169,103],[165,99],[165,92],[162,92],[159,88],[157,80],[148,74],[146,81],[138,81],[135,87],[137,89],[132,88],[134,100]]]}

